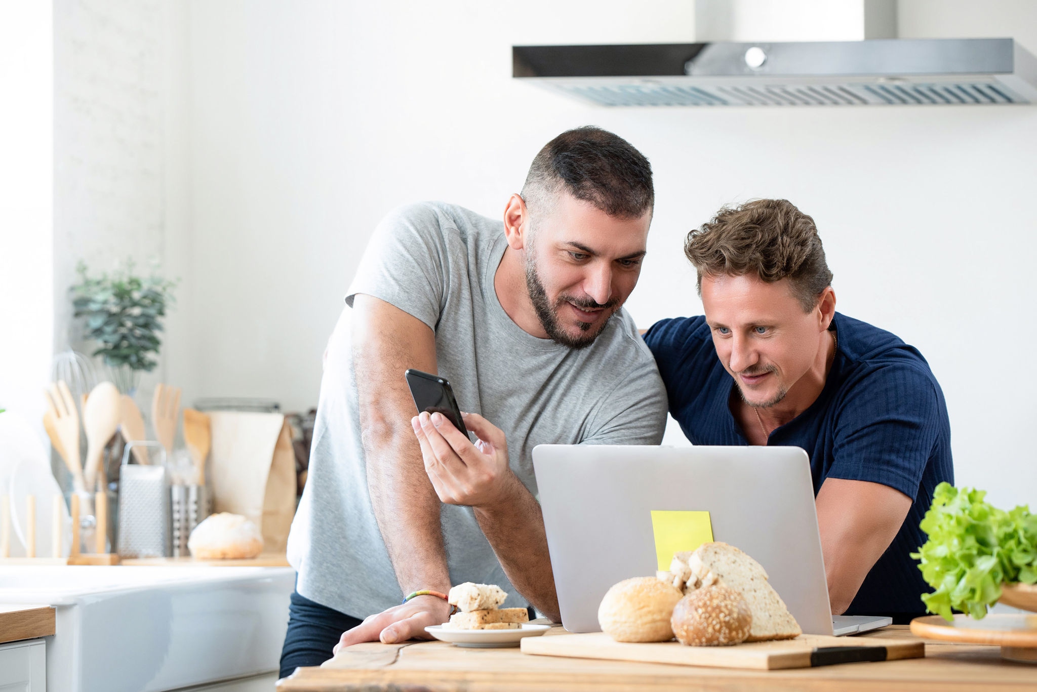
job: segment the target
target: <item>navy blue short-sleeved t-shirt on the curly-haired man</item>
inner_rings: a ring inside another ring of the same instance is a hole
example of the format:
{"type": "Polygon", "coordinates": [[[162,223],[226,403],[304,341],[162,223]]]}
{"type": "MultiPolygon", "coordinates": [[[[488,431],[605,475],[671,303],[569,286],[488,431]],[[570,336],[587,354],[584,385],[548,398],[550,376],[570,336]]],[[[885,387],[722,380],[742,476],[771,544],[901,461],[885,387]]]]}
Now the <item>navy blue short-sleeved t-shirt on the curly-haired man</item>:
{"type": "MultiPolygon", "coordinates": [[[[931,589],[908,554],[925,543],[919,523],[936,485],[954,482],[944,393],[914,347],[838,312],[832,324],[838,348],[824,388],[770,433],[767,444],[807,451],[815,495],[832,477],[882,483],[915,500],[846,614],[921,614],[920,596],[931,589]]],[[[749,444],[729,407],[734,379],[717,357],[704,316],[657,322],[645,341],[666,384],[670,414],[693,444],[749,444]]]]}

